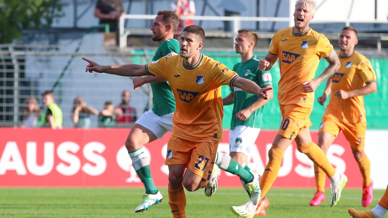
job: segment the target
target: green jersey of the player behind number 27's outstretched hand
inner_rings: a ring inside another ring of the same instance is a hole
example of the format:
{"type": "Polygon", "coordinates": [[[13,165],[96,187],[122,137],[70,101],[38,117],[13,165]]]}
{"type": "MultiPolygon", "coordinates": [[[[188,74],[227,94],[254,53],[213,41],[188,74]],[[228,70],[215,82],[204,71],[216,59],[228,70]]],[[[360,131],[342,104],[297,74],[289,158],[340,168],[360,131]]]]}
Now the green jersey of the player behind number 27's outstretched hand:
{"type": "MultiPolygon", "coordinates": [[[[260,87],[272,85],[271,74],[268,71],[259,71],[259,61],[260,59],[258,57],[253,56],[251,59],[244,63],[239,62],[238,64],[234,65],[233,71],[236,71],[236,73],[239,74],[241,78],[254,81],[260,87]]],[[[254,128],[261,128],[264,107],[260,107],[256,111],[252,112],[251,116],[249,116],[246,121],[236,119],[236,114],[242,109],[246,109],[247,107],[251,106],[256,100],[258,100],[258,96],[255,94],[244,92],[240,88],[236,87],[233,90],[234,107],[230,129],[233,130],[234,128],[236,128],[236,126],[250,126],[254,128]]]]}

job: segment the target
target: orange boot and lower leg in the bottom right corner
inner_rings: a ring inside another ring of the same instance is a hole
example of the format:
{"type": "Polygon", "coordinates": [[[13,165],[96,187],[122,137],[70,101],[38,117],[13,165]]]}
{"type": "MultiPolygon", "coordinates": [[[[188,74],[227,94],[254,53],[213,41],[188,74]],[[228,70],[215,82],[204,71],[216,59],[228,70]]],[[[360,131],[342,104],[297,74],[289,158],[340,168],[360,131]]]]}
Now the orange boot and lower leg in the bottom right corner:
{"type": "Polygon", "coordinates": [[[379,203],[371,210],[357,211],[353,208],[348,209],[348,213],[353,218],[384,218],[388,211],[388,185],[385,189],[383,197],[381,197],[379,203]]]}

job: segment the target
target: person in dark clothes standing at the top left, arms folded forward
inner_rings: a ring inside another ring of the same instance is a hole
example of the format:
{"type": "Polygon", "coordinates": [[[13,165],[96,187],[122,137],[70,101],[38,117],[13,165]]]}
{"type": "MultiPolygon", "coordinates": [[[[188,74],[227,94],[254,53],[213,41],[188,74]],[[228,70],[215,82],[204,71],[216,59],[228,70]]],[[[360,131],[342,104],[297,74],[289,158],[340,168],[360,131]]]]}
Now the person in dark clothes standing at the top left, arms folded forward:
{"type": "Polygon", "coordinates": [[[118,30],[121,14],[125,14],[121,0],[99,0],[94,10],[94,16],[100,19],[100,24],[109,24],[111,32],[118,30]]]}

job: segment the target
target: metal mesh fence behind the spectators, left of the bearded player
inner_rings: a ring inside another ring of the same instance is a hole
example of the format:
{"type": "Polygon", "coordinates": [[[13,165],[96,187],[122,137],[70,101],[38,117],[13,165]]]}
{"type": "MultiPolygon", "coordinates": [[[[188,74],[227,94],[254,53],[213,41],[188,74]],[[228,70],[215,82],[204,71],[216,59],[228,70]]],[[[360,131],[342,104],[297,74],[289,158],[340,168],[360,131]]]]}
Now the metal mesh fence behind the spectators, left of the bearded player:
{"type": "MultiPolygon", "coordinates": [[[[0,45],[0,126],[21,126],[23,108],[28,106],[24,101],[29,97],[35,97],[40,102],[42,112],[41,94],[45,90],[53,91],[55,101],[62,109],[64,127],[74,126],[70,113],[73,100],[78,96],[101,111],[107,100],[112,101],[114,106],[118,105],[121,92],[126,89],[132,92],[130,105],[137,109],[137,117],[151,108],[149,85],[133,90],[132,78],[85,73],[87,62],[81,59],[87,57],[100,64],[145,64],[151,61],[147,52],[130,54],[103,49],[88,52],[88,43],[93,42],[87,42],[76,51],[74,46],[63,45],[0,45]],[[58,83],[60,85],[55,86],[58,83]]],[[[92,127],[97,127],[97,116],[91,119],[92,127]]]]}

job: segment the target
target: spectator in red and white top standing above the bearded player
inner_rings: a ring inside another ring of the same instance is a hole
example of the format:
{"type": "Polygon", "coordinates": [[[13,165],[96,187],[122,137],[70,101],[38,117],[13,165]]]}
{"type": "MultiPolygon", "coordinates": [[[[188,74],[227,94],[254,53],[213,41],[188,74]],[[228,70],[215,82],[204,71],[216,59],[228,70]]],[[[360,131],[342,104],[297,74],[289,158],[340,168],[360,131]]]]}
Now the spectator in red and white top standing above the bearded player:
{"type": "Polygon", "coordinates": [[[194,0],[177,0],[171,3],[171,10],[179,17],[179,25],[174,36],[180,36],[186,26],[194,25],[193,20],[181,20],[185,16],[195,16],[194,0]]]}

